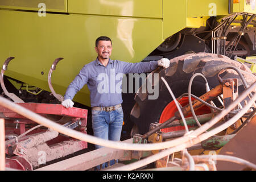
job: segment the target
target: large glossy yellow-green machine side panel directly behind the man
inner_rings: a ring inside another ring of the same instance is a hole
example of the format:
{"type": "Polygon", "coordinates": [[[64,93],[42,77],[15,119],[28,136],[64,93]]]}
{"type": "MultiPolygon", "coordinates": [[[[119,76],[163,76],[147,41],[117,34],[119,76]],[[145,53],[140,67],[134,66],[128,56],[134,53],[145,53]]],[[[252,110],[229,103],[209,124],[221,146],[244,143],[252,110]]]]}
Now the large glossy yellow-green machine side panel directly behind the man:
{"type": "MultiPolygon", "coordinates": [[[[80,69],[96,59],[98,36],[113,42],[112,59],[142,61],[162,43],[162,19],[99,16],[84,14],[47,14],[0,10],[0,64],[15,57],[5,75],[48,90],[47,76],[53,61],[63,57],[52,73],[55,91],[64,95],[80,69]]],[[[90,105],[84,86],[75,101],[90,105]]]]}

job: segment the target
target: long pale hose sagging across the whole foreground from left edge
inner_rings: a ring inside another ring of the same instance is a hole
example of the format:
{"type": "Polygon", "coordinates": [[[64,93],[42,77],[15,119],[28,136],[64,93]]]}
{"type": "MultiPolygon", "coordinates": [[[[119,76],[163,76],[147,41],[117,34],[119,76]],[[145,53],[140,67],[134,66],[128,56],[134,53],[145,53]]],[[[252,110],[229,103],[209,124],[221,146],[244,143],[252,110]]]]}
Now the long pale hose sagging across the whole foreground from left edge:
{"type": "MultiPolygon", "coordinates": [[[[220,114],[216,115],[213,119],[211,119],[209,122],[205,123],[199,129],[194,130],[193,133],[191,133],[191,134],[193,134],[193,137],[197,137],[199,134],[204,133],[204,131],[208,130],[210,127],[215,125],[218,121],[220,121],[220,119],[222,119],[226,114],[228,114],[230,110],[232,110],[234,107],[236,107],[239,102],[241,102],[245,97],[247,97],[247,94],[249,94],[252,90],[254,90],[255,87],[256,87],[256,82],[254,82],[254,84],[252,84],[248,89],[243,91],[241,96],[238,97],[228,107],[226,107],[226,109],[222,110],[220,114]]],[[[253,98],[248,103],[251,103],[251,101],[253,101],[253,98]]],[[[191,137],[192,137],[191,135],[187,135],[187,136],[177,138],[174,140],[170,140],[167,142],[151,143],[151,144],[128,144],[128,143],[122,143],[122,142],[114,142],[111,140],[105,140],[105,139],[93,137],[91,135],[86,135],[86,134],[81,133],[76,130],[68,129],[67,127],[64,127],[64,126],[59,125],[58,123],[52,122],[51,120],[44,118],[41,115],[36,114],[22,106],[19,106],[18,104],[15,104],[14,102],[11,102],[1,96],[0,96],[0,105],[6,107],[7,109],[15,111],[16,113],[18,113],[20,115],[23,115],[24,117],[31,119],[32,121],[35,121],[41,125],[44,125],[50,129],[53,129],[55,131],[58,131],[59,133],[68,135],[69,137],[73,137],[73,138],[83,140],[83,141],[86,141],[89,143],[94,143],[94,144],[98,144],[100,146],[105,146],[105,147],[110,147],[110,148],[119,148],[119,149],[123,149],[123,150],[141,150],[141,151],[161,150],[164,148],[177,146],[180,143],[188,142],[191,140],[191,137]]],[[[247,111],[246,110],[243,113],[245,108],[247,108],[247,107],[243,107],[243,109],[238,114],[239,115],[241,115],[241,113],[244,114],[247,111]]],[[[247,109],[249,109],[249,108],[247,108],[247,109]]],[[[240,116],[240,118],[241,117],[242,117],[242,115],[240,116]]],[[[210,133],[210,132],[208,132],[208,133],[210,133]]]]}

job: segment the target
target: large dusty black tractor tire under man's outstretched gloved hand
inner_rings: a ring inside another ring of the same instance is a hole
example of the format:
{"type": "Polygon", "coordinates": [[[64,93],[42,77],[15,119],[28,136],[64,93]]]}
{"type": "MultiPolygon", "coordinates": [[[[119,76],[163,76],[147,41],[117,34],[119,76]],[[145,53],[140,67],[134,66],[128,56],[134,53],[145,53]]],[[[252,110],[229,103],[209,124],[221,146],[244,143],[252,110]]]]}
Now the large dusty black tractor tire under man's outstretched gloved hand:
{"type": "MultiPolygon", "coordinates": [[[[175,57],[170,60],[170,67],[167,69],[158,68],[155,71],[151,72],[158,73],[159,79],[153,80],[151,84],[153,86],[159,86],[159,96],[155,100],[148,99],[150,95],[148,92],[142,92],[142,86],[135,95],[135,105],[131,110],[131,121],[134,122],[133,134],[144,134],[149,131],[151,123],[159,122],[162,123],[171,118],[175,111],[177,111],[174,102],[172,102],[172,97],[168,92],[166,85],[161,80],[161,77],[164,77],[168,82],[172,92],[175,97],[178,98],[183,93],[188,92],[189,80],[195,73],[203,73],[207,78],[210,89],[220,84],[218,80],[218,72],[222,68],[226,67],[236,67],[240,69],[243,77],[247,82],[247,85],[253,84],[256,81],[256,77],[251,73],[250,69],[238,61],[229,59],[229,57],[223,55],[216,55],[212,53],[189,53],[187,55],[182,55],[175,57]]],[[[238,91],[242,93],[245,90],[245,87],[242,84],[240,76],[238,73],[232,69],[227,69],[224,73],[220,75],[222,78],[238,78],[238,91]]],[[[146,81],[144,84],[146,84],[146,81]]],[[[196,96],[201,96],[205,93],[205,81],[202,77],[197,76],[193,80],[191,93],[196,96]]],[[[154,94],[154,93],[153,93],[154,94]]],[[[249,98],[246,98],[249,99],[249,98]]],[[[220,104],[216,102],[215,104],[220,104]]],[[[188,98],[184,97],[180,100],[181,106],[188,104],[188,98]]],[[[243,102],[241,103],[243,104],[243,102]]],[[[197,115],[210,113],[210,109],[207,106],[202,107],[200,110],[196,111],[197,115]]],[[[175,130],[180,130],[181,128],[176,128],[175,130]]],[[[174,131],[174,130],[163,130],[174,131]]]]}

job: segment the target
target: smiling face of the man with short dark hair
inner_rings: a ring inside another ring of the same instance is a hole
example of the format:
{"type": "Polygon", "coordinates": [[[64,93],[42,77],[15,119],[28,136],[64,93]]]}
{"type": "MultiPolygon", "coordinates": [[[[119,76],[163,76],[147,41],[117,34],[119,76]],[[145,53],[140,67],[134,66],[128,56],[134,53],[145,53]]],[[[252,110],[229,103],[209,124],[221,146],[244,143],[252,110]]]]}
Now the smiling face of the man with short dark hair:
{"type": "Polygon", "coordinates": [[[95,51],[98,53],[98,57],[101,59],[109,59],[112,53],[111,41],[100,40],[98,46],[95,47],[95,51]]]}

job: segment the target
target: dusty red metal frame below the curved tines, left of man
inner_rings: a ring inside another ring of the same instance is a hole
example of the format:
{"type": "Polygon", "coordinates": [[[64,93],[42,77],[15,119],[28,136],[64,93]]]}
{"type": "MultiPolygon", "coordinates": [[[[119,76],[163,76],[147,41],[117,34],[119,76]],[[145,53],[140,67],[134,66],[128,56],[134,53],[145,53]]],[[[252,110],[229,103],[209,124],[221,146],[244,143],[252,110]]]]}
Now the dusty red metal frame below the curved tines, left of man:
{"type": "MultiPolygon", "coordinates": [[[[20,106],[25,107],[28,110],[33,111],[34,113],[40,114],[43,117],[48,117],[50,115],[60,116],[60,117],[68,117],[70,119],[69,121],[76,122],[78,119],[81,121],[81,125],[79,126],[79,131],[82,133],[86,133],[86,124],[87,124],[87,114],[88,110],[86,109],[80,109],[77,107],[72,108],[65,108],[63,105],[60,104],[41,104],[41,103],[17,103],[20,106]]],[[[31,127],[34,127],[37,125],[34,121],[31,121],[30,119],[27,119],[26,117],[23,117],[23,115],[20,115],[18,113],[15,113],[12,110],[6,109],[5,107],[0,106],[0,113],[5,117],[6,121],[6,135],[20,135],[23,134],[25,131],[30,129],[31,127]],[[18,127],[16,127],[18,126],[18,127]],[[26,128],[26,126],[30,126],[30,128],[26,128]]],[[[67,122],[67,121],[66,121],[67,122]]],[[[38,128],[21,139],[19,139],[19,142],[22,142],[24,140],[28,140],[29,137],[44,133],[46,132],[45,129],[38,128]]],[[[51,140],[48,140],[44,143],[45,147],[48,150],[48,153],[53,154],[54,152],[58,152],[58,156],[53,159],[58,159],[63,156],[72,154],[73,152],[80,151],[82,149],[85,149],[88,147],[87,142],[76,140],[69,138],[67,136],[58,135],[58,137],[53,138],[51,140]],[[75,150],[67,150],[67,148],[72,148],[75,146],[75,150]],[[53,152],[53,153],[52,153],[53,152]]],[[[20,170],[32,170],[35,164],[32,164],[30,159],[32,157],[35,157],[37,155],[36,147],[34,148],[24,148],[24,150],[27,150],[27,154],[18,154],[17,152],[14,152],[13,154],[10,154],[10,147],[19,147],[19,143],[11,143],[8,146],[6,146],[6,154],[9,155],[6,158],[6,167],[20,169],[20,170]],[[31,150],[35,150],[35,155],[31,154],[31,150]],[[10,156],[11,155],[11,156],[10,156]]],[[[47,162],[53,159],[49,159],[49,155],[47,154],[47,162]]]]}

